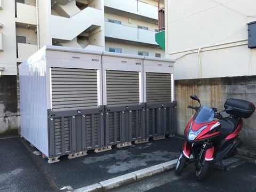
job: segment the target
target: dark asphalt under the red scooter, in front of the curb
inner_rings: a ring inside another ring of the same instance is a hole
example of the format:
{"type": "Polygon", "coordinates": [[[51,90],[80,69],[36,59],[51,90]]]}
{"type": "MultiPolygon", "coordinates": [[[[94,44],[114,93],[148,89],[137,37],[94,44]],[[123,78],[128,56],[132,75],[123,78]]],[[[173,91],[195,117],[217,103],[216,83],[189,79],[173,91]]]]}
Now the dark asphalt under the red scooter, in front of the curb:
{"type": "Polygon", "coordinates": [[[190,163],[180,176],[171,170],[110,191],[256,191],[256,160],[242,156],[235,156],[234,159],[236,161],[227,166],[227,171],[222,171],[218,165],[211,165],[205,180],[201,182],[196,181],[195,166],[190,163]]]}

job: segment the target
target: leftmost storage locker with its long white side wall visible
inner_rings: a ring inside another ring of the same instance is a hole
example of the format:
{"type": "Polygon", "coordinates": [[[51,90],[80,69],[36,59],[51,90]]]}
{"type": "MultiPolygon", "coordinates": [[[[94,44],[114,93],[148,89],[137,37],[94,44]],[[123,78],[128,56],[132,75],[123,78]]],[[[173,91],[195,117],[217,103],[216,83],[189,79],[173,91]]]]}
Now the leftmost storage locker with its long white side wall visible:
{"type": "Polygon", "coordinates": [[[50,163],[104,147],[101,55],[45,46],[19,66],[21,136],[50,163]]]}

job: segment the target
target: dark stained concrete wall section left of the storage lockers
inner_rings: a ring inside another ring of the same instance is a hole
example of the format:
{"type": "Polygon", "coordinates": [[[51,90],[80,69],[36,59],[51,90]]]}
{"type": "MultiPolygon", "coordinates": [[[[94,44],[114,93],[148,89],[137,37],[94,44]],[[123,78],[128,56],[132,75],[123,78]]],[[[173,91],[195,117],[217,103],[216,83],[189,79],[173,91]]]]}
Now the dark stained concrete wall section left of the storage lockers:
{"type": "Polygon", "coordinates": [[[18,135],[17,76],[0,77],[0,137],[18,135]]]}

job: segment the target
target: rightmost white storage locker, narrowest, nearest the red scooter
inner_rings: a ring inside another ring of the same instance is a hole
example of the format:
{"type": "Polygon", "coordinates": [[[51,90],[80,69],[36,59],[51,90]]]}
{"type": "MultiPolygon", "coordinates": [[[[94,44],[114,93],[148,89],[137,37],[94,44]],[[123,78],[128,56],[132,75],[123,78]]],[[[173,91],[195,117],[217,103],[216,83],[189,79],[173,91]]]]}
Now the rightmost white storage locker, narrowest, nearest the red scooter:
{"type": "Polygon", "coordinates": [[[174,62],[150,57],[143,60],[146,134],[149,138],[161,139],[175,132],[174,62]]]}

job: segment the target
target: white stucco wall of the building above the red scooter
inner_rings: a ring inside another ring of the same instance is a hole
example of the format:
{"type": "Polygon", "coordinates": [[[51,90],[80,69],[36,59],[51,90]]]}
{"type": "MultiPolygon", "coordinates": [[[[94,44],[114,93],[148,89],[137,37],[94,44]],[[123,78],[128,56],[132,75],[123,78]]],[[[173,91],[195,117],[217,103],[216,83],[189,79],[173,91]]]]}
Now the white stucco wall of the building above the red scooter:
{"type": "Polygon", "coordinates": [[[166,57],[175,78],[256,75],[256,50],[247,48],[254,0],[165,1],[166,57]]]}

